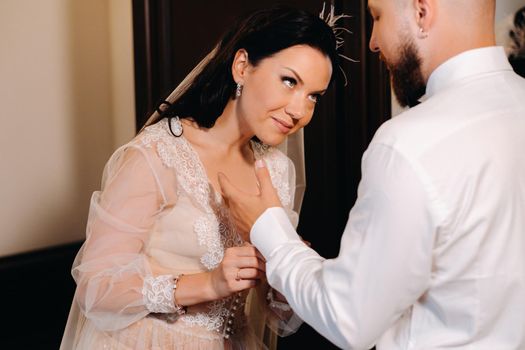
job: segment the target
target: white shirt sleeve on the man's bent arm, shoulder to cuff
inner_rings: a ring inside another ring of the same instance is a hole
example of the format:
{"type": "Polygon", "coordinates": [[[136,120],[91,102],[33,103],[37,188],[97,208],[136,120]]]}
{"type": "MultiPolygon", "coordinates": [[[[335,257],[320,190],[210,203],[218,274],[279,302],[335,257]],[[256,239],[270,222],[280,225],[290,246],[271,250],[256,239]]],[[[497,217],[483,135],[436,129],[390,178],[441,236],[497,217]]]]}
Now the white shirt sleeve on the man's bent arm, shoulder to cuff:
{"type": "Polygon", "coordinates": [[[375,144],[362,174],[337,258],[303,244],[282,208],[268,209],[251,231],[270,285],[305,322],[348,349],[372,347],[424,293],[435,236],[419,173],[403,155],[375,144]]]}

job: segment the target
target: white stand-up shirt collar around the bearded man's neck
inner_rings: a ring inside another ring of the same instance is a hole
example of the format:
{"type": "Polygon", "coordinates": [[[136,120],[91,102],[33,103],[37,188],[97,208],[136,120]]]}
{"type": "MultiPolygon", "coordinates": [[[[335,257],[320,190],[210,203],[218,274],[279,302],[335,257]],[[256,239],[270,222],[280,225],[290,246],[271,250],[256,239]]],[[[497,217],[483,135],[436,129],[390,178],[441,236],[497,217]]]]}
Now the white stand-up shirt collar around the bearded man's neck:
{"type": "Polygon", "coordinates": [[[512,66],[501,46],[483,47],[462,52],[448,59],[432,72],[427,82],[426,94],[421,100],[425,100],[463,79],[502,70],[512,71],[512,66]]]}

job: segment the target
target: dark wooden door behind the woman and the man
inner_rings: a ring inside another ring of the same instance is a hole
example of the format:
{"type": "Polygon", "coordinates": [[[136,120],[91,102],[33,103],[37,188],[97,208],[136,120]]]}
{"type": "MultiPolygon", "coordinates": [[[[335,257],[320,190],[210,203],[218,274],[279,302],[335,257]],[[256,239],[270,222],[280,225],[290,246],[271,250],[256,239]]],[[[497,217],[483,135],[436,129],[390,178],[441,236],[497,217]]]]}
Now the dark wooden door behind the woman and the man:
{"type": "MultiPolygon", "coordinates": [[[[313,13],[321,0],[133,0],[137,130],[215,45],[238,16],[256,8],[286,3],[313,13]]],[[[336,12],[351,18],[343,24],[343,61],[348,85],[335,84],[305,128],[307,189],[298,231],[321,255],[331,258],[361,178],[360,162],[378,126],[390,116],[390,85],[385,67],[368,50],[371,29],[366,0],[333,1],[336,12]]],[[[279,340],[279,349],[335,348],[309,326],[279,340]]]]}

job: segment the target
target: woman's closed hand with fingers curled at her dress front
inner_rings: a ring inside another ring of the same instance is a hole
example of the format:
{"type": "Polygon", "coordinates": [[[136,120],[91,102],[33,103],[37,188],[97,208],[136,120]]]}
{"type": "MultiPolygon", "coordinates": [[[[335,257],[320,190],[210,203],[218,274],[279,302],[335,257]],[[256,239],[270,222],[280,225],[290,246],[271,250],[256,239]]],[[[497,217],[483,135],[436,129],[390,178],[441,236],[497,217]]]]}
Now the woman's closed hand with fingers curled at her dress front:
{"type": "Polygon", "coordinates": [[[246,243],[226,249],[222,262],[210,272],[215,299],[255,287],[265,278],[265,271],[266,262],[254,246],[246,243]]]}

